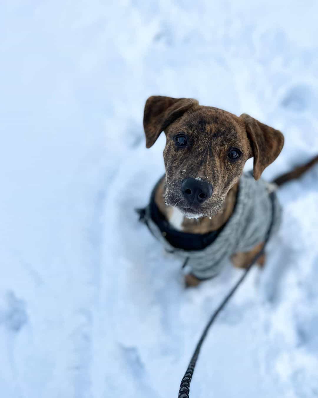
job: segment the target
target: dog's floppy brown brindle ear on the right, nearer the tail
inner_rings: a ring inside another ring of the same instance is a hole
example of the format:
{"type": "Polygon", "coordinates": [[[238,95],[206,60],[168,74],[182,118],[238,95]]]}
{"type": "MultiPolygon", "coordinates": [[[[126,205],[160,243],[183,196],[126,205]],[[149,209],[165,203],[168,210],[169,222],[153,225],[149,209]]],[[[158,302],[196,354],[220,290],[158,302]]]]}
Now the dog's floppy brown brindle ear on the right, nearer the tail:
{"type": "Polygon", "coordinates": [[[259,179],[264,169],[280,154],[284,145],[284,136],[280,131],[259,122],[246,113],[240,115],[240,118],[244,120],[253,151],[251,157],[254,156],[254,178],[259,179]]]}

